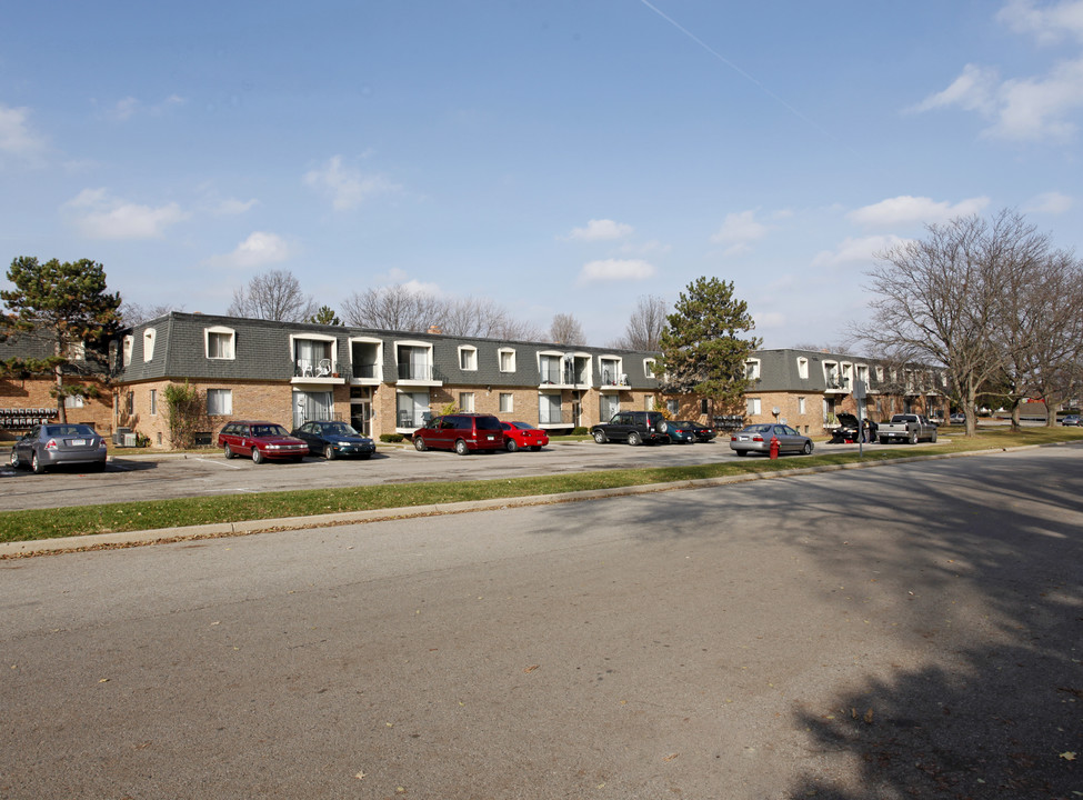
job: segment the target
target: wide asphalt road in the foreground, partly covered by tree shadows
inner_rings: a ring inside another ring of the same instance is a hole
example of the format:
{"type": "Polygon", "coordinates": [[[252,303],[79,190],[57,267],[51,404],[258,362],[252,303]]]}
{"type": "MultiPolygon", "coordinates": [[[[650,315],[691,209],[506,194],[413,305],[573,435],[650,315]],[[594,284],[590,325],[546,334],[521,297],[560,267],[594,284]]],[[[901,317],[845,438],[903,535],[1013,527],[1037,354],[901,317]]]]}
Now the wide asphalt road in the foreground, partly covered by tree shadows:
{"type": "Polygon", "coordinates": [[[1060,447],[2,561],[0,797],[1074,798],[1081,486],[1060,447]]]}

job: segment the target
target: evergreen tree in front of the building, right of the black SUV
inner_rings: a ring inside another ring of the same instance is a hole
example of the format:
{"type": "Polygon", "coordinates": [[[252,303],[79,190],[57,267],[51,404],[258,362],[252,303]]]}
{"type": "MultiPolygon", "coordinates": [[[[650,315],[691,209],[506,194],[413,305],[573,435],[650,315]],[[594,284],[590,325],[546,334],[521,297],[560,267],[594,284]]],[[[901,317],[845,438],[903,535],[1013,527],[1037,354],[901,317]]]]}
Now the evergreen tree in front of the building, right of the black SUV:
{"type": "Polygon", "coordinates": [[[745,362],[762,340],[742,338],[755,321],[748,303],[733,297],[732,281],[699,278],[665,319],[655,366],[665,374],[665,389],[708,398],[713,413],[740,413],[751,383],[745,362]]]}

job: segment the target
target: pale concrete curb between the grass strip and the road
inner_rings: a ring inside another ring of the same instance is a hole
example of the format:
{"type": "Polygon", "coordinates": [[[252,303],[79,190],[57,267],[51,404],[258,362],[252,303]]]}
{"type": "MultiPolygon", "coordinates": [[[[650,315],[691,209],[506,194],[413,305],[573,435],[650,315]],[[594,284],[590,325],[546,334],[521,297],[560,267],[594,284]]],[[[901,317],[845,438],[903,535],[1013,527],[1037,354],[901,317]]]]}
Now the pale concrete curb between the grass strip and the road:
{"type": "Polygon", "coordinates": [[[0,560],[28,558],[31,556],[58,554],[64,552],[86,552],[89,550],[126,549],[147,544],[169,544],[180,541],[194,541],[200,539],[222,539],[228,537],[251,536],[254,533],[269,533],[273,531],[302,530],[305,528],[332,528],[344,524],[361,524],[365,522],[439,517],[453,513],[472,513],[477,511],[495,511],[504,508],[553,506],[556,503],[605,500],[616,497],[632,497],[636,494],[655,494],[664,491],[680,491],[685,489],[709,489],[711,487],[722,487],[731,483],[749,483],[751,481],[770,480],[773,478],[792,478],[795,476],[816,474],[820,472],[872,469],[875,467],[914,463],[920,461],[942,461],[953,458],[967,458],[1001,452],[1035,450],[1045,447],[1069,447],[1072,443],[1073,442],[1023,444],[1020,447],[1001,448],[997,450],[969,450],[957,453],[910,456],[900,459],[892,459],[890,461],[855,461],[853,463],[845,464],[795,467],[792,469],[782,469],[772,472],[750,472],[740,476],[700,478],[696,480],[672,481],[668,483],[646,483],[643,486],[618,487],[613,489],[584,489],[581,491],[563,492],[560,494],[532,494],[520,498],[467,500],[457,503],[433,503],[431,506],[409,506],[404,508],[371,509],[367,511],[343,511],[340,513],[315,514],[312,517],[282,517],[278,519],[243,520],[239,522],[212,522],[209,524],[126,531],[121,533],[90,533],[80,537],[66,537],[63,539],[0,542],[0,560]]]}

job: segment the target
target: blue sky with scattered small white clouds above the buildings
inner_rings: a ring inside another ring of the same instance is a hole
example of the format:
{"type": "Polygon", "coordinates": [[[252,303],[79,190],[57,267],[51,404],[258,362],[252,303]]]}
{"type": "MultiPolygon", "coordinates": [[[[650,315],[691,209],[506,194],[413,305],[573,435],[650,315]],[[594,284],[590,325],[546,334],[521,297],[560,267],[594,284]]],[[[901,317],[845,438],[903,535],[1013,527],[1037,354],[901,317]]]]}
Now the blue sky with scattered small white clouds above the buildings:
{"type": "Polygon", "coordinates": [[[224,312],[405,283],[592,344],[732,280],[841,341],[873,253],[1023,211],[1081,249],[1083,0],[4,3],[0,260],[224,312]]]}

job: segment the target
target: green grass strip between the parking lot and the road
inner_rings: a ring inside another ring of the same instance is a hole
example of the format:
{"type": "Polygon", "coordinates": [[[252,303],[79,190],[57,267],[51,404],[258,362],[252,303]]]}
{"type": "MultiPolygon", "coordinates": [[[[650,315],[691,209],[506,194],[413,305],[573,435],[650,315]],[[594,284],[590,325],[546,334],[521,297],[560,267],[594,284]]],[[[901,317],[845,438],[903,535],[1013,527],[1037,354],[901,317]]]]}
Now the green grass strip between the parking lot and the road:
{"type": "MultiPolygon", "coordinates": [[[[989,450],[1021,444],[1043,444],[1055,441],[1083,440],[1083,431],[1062,429],[1025,429],[1019,432],[989,431],[974,439],[926,447],[898,446],[869,450],[864,457],[855,452],[823,453],[812,457],[725,459],[688,467],[601,470],[578,474],[534,478],[493,479],[478,481],[447,481],[399,483],[394,486],[362,486],[340,489],[310,489],[259,494],[179,498],[147,502],[109,503],[62,509],[32,509],[0,513],[0,541],[31,541],[110,533],[213,522],[309,517],[373,509],[410,508],[469,500],[492,500],[558,494],[589,489],[614,489],[771,472],[799,467],[844,464],[856,461],[888,461],[907,456],[961,450],[989,450]]],[[[724,447],[724,444],[723,444],[724,447]]],[[[822,452],[823,446],[819,448],[822,452]]],[[[705,457],[716,457],[714,451],[705,457]]]]}

